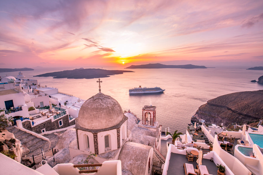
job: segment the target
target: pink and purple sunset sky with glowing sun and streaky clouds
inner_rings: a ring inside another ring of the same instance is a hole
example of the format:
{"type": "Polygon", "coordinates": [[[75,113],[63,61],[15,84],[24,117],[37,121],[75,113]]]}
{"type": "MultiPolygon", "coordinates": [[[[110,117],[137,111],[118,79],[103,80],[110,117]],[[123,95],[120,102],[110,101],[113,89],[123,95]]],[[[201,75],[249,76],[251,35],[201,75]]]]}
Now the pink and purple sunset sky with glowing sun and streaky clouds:
{"type": "Polygon", "coordinates": [[[0,1],[0,68],[263,66],[263,1],[0,1]]]}

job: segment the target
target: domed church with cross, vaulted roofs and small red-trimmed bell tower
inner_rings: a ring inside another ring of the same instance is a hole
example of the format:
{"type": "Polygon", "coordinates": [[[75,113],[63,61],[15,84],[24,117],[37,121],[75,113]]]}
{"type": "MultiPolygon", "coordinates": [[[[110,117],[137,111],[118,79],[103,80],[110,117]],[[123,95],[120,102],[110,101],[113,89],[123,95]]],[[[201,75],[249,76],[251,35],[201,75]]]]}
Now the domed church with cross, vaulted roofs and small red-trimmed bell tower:
{"type": "Polygon", "coordinates": [[[161,126],[155,121],[156,107],[144,106],[142,121],[123,113],[120,104],[99,93],[84,102],[76,118],[77,141],[69,146],[70,158],[95,153],[96,161],[121,160],[122,174],[150,175],[165,159],[160,154],[161,126]],[[146,115],[150,114],[149,121],[146,115]]]}

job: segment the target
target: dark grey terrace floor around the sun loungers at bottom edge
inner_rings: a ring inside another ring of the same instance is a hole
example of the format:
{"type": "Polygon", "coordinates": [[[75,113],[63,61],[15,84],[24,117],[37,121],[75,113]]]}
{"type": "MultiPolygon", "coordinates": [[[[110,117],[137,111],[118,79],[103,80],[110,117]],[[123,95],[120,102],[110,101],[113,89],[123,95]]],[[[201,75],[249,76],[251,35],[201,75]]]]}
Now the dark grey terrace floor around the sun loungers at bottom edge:
{"type": "MultiPolygon", "coordinates": [[[[184,171],[184,163],[193,164],[194,168],[196,169],[196,158],[194,161],[188,162],[188,159],[185,157],[186,155],[171,153],[169,167],[167,170],[167,175],[185,175],[184,171]]],[[[210,174],[217,175],[218,168],[214,162],[211,162],[210,159],[202,159],[202,165],[205,165],[208,169],[210,174]]]]}

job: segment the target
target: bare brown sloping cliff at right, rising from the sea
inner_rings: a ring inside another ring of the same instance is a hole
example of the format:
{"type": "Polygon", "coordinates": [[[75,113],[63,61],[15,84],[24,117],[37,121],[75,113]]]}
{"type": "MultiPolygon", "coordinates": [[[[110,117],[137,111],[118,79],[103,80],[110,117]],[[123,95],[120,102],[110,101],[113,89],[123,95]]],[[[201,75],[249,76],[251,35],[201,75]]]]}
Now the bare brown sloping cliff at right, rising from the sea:
{"type": "MultiPolygon", "coordinates": [[[[236,92],[211,99],[196,111],[205,122],[247,123],[263,119],[263,90],[236,92]]],[[[191,120],[196,120],[192,118],[191,120]]]]}

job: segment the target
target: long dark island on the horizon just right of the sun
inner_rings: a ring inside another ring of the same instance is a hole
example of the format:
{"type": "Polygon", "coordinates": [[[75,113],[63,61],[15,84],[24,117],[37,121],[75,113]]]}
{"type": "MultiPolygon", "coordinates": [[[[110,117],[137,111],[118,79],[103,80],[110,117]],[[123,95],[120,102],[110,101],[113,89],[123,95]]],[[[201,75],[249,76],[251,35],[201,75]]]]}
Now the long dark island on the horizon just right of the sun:
{"type": "Polygon", "coordinates": [[[142,65],[131,65],[124,69],[160,69],[160,68],[180,68],[180,69],[206,69],[205,66],[196,66],[193,64],[186,65],[165,65],[160,63],[155,64],[142,64],[142,65]]]}

